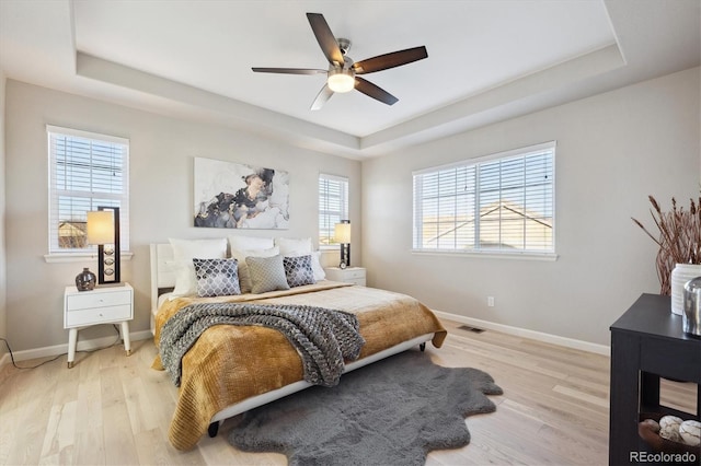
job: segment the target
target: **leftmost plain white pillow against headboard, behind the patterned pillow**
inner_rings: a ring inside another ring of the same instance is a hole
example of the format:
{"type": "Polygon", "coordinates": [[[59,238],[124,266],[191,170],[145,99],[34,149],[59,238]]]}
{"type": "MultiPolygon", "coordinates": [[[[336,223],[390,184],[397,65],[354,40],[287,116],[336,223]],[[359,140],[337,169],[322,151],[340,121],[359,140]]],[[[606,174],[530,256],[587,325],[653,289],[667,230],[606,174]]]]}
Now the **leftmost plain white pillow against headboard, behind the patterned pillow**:
{"type": "Polygon", "coordinates": [[[174,240],[175,289],[173,296],[189,296],[197,293],[197,277],[193,259],[225,259],[227,257],[227,238],[217,240],[174,240]]]}

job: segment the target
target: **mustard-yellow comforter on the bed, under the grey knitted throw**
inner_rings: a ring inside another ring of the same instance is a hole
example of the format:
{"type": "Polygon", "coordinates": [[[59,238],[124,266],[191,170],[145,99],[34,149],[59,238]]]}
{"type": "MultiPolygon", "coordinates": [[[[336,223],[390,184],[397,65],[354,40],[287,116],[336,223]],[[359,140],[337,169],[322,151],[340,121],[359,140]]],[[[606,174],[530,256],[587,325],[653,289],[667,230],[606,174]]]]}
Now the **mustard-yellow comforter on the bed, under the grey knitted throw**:
{"type": "MultiPolygon", "coordinates": [[[[212,301],[307,304],[352,312],[358,317],[366,341],[360,359],[425,334],[434,334],[432,341],[436,348],[446,338],[438,318],[411,296],[321,281],[263,294],[166,301],[156,316],[156,345],[161,327],[180,308],[212,301]]],[[[162,369],[158,358],[153,366],[162,369]]],[[[279,331],[258,326],[210,327],[183,358],[180,396],[169,439],[174,447],[189,450],[218,411],[302,378],[301,359],[279,331]]]]}

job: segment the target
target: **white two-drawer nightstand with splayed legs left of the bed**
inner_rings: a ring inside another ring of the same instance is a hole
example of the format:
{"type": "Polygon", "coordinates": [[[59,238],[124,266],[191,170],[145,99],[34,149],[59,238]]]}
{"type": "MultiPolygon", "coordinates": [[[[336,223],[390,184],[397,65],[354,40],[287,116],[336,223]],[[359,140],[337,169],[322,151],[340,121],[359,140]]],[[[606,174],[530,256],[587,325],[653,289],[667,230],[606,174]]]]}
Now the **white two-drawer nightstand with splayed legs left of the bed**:
{"type": "Polygon", "coordinates": [[[129,321],[134,318],[134,289],[122,287],[95,288],[78,291],[66,287],[64,293],[64,328],[68,333],[68,369],[73,366],[78,330],[99,324],[122,324],[122,340],[127,356],[131,354],[129,321]]]}

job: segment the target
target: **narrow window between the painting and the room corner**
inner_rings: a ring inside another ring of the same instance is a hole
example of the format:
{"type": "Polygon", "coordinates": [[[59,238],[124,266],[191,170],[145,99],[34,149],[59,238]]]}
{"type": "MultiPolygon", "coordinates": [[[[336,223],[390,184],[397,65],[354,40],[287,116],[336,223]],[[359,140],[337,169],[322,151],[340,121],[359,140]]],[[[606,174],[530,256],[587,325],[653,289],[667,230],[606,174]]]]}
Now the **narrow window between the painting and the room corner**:
{"type": "Polygon", "coordinates": [[[337,244],[334,241],[336,223],[348,219],[348,178],[319,175],[319,245],[337,244]]]}

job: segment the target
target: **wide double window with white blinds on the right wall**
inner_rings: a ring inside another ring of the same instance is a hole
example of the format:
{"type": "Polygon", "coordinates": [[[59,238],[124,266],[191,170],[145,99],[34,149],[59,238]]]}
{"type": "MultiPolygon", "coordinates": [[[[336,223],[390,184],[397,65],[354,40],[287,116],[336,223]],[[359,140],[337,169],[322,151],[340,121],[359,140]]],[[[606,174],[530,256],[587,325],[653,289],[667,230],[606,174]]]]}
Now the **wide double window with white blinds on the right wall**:
{"type": "Polygon", "coordinates": [[[555,142],[414,173],[414,249],[554,254],[555,142]]]}

